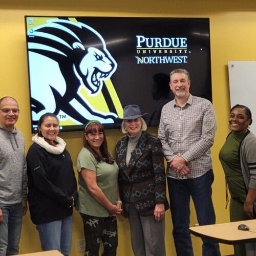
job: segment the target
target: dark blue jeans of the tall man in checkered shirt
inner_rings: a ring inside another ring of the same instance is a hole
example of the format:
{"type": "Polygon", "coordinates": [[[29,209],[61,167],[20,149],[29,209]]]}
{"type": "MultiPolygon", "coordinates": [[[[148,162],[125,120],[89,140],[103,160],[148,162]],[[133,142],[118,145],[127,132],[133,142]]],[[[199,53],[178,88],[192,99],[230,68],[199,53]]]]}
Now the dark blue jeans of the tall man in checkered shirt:
{"type": "MultiPolygon", "coordinates": [[[[194,255],[189,232],[190,196],[194,201],[199,225],[215,224],[215,212],[211,200],[212,182],[214,182],[212,169],[195,179],[177,180],[167,177],[177,256],[194,255]]],[[[221,255],[218,243],[210,239],[202,240],[203,256],[221,255]]]]}

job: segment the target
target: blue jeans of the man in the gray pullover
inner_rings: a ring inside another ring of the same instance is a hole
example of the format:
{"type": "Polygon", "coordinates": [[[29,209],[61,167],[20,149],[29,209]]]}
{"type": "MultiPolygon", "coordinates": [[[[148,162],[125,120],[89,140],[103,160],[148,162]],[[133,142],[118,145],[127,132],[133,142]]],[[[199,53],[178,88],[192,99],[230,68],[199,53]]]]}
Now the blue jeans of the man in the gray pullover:
{"type": "Polygon", "coordinates": [[[0,255],[18,254],[18,244],[22,231],[22,203],[0,204],[4,222],[0,224],[0,255]]]}

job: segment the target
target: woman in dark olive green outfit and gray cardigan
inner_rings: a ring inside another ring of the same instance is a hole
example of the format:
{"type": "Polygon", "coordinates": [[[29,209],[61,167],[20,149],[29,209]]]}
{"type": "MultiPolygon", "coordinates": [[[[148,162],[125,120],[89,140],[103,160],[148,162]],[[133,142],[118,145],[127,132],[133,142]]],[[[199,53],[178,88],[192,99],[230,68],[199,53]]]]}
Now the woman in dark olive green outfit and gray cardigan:
{"type": "MultiPolygon", "coordinates": [[[[231,197],[231,222],[255,218],[253,202],[256,198],[256,137],[248,130],[251,123],[251,111],[246,106],[233,106],[229,114],[231,132],[219,154],[231,197]]],[[[256,255],[254,247],[254,243],[234,245],[234,255],[256,255]]]]}

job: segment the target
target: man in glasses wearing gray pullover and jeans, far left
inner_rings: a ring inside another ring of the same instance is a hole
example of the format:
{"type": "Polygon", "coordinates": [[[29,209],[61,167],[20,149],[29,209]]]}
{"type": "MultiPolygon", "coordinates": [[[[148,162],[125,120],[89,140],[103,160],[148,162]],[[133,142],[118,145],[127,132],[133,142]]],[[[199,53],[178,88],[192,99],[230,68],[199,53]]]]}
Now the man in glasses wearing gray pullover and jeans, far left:
{"type": "Polygon", "coordinates": [[[27,211],[24,137],[14,125],[17,101],[0,99],[0,256],[18,254],[22,218],[27,211]]]}

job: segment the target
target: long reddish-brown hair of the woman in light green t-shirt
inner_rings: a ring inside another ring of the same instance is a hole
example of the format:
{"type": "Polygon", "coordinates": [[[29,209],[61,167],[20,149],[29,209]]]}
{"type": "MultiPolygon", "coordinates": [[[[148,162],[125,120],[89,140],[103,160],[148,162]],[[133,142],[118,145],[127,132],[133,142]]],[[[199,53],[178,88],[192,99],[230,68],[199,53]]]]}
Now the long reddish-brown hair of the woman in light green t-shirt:
{"type": "Polygon", "coordinates": [[[108,143],[106,142],[106,136],[103,125],[99,121],[89,121],[86,124],[86,127],[84,129],[84,133],[86,135],[90,133],[103,133],[103,142],[100,145],[100,152],[102,157],[98,155],[98,153],[91,147],[88,140],[86,139],[86,136],[83,136],[83,146],[86,147],[96,158],[97,161],[103,160],[106,163],[113,164],[114,159],[111,157],[109,150],[108,150],[108,143]]]}

